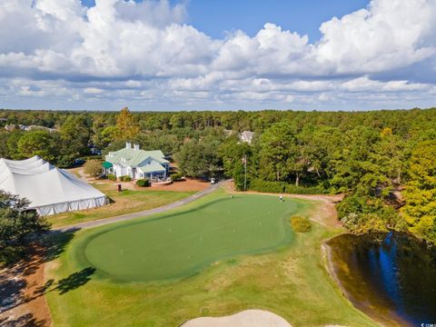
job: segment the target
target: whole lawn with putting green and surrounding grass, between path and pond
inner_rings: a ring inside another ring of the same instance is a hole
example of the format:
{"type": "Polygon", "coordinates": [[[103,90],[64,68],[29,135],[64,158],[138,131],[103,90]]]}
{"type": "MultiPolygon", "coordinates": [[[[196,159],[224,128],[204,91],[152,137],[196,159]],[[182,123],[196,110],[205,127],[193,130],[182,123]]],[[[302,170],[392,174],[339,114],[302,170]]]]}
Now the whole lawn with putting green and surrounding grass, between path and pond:
{"type": "Polygon", "coordinates": [[[289,215],[312,205],[218,191],[173,214],[78,232],[46,267],[54,326],[178,326],[245,309],[297,327],[375,325],[324,269],[322,239],[337,231],[292,233],[289,215]]]}

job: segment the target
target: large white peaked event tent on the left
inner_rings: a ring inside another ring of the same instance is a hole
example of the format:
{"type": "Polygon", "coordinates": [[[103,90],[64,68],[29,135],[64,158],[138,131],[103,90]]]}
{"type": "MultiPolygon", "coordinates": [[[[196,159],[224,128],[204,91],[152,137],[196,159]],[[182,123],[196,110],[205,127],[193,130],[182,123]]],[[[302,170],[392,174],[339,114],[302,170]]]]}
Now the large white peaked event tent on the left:
{"type": "Polygon", "coordinates": [[[41,215],[84,210],[107,203],[104,193],[38,156],[0,159],[0,190],[25,197],[41,215]]]}

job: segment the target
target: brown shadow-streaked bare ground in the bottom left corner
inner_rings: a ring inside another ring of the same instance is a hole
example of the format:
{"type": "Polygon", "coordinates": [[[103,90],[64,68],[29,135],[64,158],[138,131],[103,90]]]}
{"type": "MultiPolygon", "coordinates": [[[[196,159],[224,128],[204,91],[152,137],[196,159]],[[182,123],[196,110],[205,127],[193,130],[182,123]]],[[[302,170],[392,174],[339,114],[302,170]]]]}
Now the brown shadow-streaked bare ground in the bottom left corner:
{"type": "Polygon", "coordinates": [[[44,289],[44,249],[34,247],[30,258],[0,272],[0,325],[50,326],[44,289]]]}

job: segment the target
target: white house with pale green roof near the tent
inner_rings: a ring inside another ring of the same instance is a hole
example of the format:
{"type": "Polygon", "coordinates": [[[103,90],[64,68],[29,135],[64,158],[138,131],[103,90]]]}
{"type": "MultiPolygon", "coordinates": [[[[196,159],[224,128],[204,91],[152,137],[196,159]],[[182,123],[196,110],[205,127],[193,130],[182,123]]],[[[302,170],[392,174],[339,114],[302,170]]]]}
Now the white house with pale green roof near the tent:
{"type": "Polygon", "coordinates": [[[149,178],[152,181],[165,180],[170,162],[162,151],[144,151],[138,144],[127,142],[125,148],[110,152],[105,157],[103,173],[113,173],[117,178],[130,176],[132,179],[149,178]]]}

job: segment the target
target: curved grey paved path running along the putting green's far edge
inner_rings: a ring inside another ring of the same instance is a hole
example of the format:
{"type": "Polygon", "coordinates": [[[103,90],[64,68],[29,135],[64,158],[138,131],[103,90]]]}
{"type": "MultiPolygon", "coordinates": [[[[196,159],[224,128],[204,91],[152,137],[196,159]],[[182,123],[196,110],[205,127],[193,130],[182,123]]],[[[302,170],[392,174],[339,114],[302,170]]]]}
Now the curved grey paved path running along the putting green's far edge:
{"type": "Polygon", "coordinates": [[[195,193],[195,194],[188,196],[182,200],[179,200],[179,201],[176,201],[173,203],[169,203],[169,204],[165,204],[163,206],[160,206],[160,207],[157,207],[154,209],[144,210],[144,211],[138,212],[138,213],[127,213],[127,214],[114,216],[111,218],[104,218],[104,219],[100,219],[100,220],[96,220],[96,221],[92,221],[92,222],[75,223],[75,224],[69,225],[69,226],[54,228],[54,229],[52,229],[52,231],[53,232],[66,232],[66,231],[83,229],[83,228],[93,228],[93,227],[103,226],[103,225],[109,224],[109,223],[118,223],[118,222],[124,222],[124,221],[128,221],[128,220],[135,219],[135,218],[141,218],[141,217],[145,217],[145,216],[148,216],[148,215],[154,214],[154,213],[163,213],[165,211],[178,208],[184,204],[192,203],[193,201],[203,197],[204,195],[207,195],[209,193],[213,193],[213,191],[218,189],[218,187],[222,183],[223,182],[211,184],[203,191],[195,193]]]}

